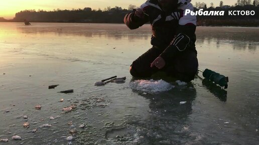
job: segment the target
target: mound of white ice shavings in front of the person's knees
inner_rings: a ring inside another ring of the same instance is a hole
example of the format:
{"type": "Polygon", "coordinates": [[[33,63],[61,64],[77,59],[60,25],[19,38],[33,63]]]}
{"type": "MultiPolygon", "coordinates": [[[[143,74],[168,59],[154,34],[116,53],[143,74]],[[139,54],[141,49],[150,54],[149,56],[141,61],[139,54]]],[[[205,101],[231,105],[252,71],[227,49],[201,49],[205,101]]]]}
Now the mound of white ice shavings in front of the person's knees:
{"type": "Polygon", "coordinates": [[[131,82],[130,85],[135,90],[140,90],[140,91],[149,92],[149,93],[167,91],[175,87],[174,85],[162,79],[160,80],[140,79],[140,80],[135,80],[131,82]]]}

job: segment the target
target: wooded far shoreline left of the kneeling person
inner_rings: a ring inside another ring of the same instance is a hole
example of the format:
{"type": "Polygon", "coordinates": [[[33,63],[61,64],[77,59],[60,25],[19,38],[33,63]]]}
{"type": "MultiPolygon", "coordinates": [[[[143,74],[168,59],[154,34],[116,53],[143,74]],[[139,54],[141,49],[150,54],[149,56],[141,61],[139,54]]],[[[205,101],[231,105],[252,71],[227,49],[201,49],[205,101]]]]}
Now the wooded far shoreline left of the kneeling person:
{"type": "MultiPolygon", "coordinates": [[[[107,9],[107,8],[106,8],[107,9]]],[[[121,7],[108,8],[107,10],[95,10],[90,7],[72,10],[23,10],[17,12],[15,18],[10,21],[22,22],[24,19],[30,22],[100,22],[122,23],[124,15],[130,12],[121,7]]]]}

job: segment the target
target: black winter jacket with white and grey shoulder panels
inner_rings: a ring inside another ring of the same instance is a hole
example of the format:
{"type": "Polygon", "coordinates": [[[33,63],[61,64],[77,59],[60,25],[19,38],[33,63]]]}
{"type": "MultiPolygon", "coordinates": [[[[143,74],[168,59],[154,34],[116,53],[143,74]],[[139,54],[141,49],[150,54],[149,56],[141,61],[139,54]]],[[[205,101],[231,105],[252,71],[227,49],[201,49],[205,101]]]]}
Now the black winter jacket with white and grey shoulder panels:
{"type": "Polygon", "coordinates": [[[146,13],[143,18],[135,15],[135,11],[127,13],[124,23],[130,29],[136,29],[146,22],[151,23],[152,40],[151,44],[162,48],[161,53],[165,60],[184,52],[186,49],[195,49],[196,41],[196,16],[188,13],[186,9],[193,11],[191,0],[178,0],[178,5],[170,11],[165,12],[159,6],[157,0],[147,0],[141,5],[146,13]]]}

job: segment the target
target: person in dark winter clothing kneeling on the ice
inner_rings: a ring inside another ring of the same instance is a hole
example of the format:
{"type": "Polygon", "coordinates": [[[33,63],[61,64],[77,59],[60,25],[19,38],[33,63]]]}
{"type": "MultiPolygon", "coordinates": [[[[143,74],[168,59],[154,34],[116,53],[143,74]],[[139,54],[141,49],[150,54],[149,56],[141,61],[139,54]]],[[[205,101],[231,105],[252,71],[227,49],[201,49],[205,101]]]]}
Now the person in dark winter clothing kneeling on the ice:
{"type": "Polygon", "coordinates": [[[194,79],[198,70],[195,48],[196,16],[191,0],[147,0],[140,8],[127,13],[124,23],[136,29],[151,23],[153,45],[133,61],[130,72],[134,77],[150,77],[157,71],[165,71],[182,81],[194,79]]]}

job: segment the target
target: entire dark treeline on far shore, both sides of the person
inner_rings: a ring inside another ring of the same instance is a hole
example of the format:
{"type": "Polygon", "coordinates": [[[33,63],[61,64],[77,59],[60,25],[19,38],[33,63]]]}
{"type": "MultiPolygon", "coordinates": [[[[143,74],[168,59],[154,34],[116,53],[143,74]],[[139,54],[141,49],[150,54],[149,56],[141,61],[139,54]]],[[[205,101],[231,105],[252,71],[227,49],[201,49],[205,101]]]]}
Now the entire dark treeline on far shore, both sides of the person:
{"type": "MultiPolygon", "coordinates": [[[[213,3],[207,8],[206,4],[196,3],[195,11],[203,8],[203,11],[224,11],[224,15],[197,15],[198,25],[239,25],[239,26],[259,26],[259,5],[223,5],[214,7],[213,3]],[[228,11],[248,10],[254,11],[254,15],[229,15],[228,11]]],[[[104,10],[95,10],[90,7],[72,10],[23,10],[17,12],[14,19],[7,20],[0,17],[0,21],[23,22],[24,19],[30,22],[99,22],[99,23],[123,23],[123,17],[131,12],[135,5],[130,5],[128,9],[115,6],[107,7],[104,10]]]]}

